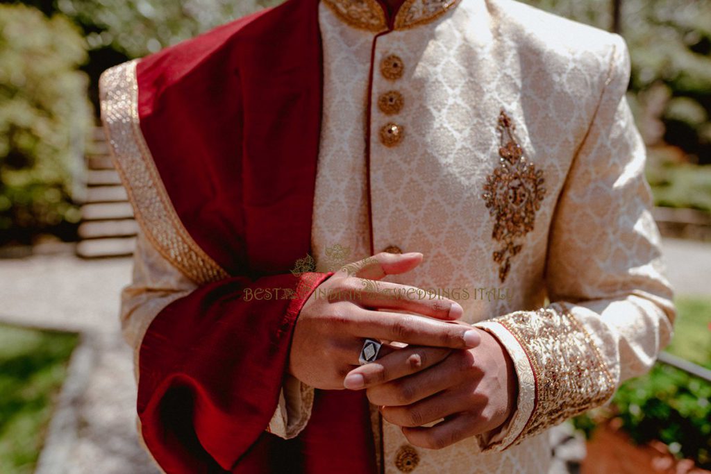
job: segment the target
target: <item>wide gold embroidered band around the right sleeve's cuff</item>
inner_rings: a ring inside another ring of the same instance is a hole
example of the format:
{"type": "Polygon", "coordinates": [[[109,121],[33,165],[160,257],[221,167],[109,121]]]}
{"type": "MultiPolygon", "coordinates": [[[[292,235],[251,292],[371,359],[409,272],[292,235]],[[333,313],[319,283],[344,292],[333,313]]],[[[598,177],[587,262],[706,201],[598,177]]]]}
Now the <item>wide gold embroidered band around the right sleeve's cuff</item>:
{"type": "Polygon", "coordinates": [[[514,443],[602,405],[616,388],[587,330],[555,304],[562,311],[549,306],[496,318],[523,347],[535,375],[535,408],[514,443]]]}

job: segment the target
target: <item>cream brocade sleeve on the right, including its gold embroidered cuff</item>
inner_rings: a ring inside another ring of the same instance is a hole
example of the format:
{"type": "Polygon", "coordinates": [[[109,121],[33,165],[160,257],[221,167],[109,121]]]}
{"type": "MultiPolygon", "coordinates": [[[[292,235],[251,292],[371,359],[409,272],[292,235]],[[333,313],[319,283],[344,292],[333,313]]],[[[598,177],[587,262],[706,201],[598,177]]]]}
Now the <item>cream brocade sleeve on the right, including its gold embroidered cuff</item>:
{"type": "Polygon", "coordinates": [[[602,96],[551,223],[551,303],[476,324],[508,350],[519,382],[518,406],[496,436],[481,436],[485,450],[506,449],[609,401],[621,382],[651,368],[672,335],[646,151],[625,96],[629,52],[612,38],[602,96]]]}

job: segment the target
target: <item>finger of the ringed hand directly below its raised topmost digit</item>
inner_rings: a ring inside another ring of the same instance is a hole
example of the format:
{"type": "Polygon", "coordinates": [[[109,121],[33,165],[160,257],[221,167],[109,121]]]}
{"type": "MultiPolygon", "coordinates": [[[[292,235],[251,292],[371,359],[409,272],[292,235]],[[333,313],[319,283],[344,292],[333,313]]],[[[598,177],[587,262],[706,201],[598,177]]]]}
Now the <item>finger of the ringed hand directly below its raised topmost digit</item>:
{"type": "Polygon", "coordinates": [[[360,304],[368,308],[410,311],[437,319],[456,320],[464,309],[456,301],[429,293],[417,286],[378,281],[375,291],[363,291],[360,304]]]}

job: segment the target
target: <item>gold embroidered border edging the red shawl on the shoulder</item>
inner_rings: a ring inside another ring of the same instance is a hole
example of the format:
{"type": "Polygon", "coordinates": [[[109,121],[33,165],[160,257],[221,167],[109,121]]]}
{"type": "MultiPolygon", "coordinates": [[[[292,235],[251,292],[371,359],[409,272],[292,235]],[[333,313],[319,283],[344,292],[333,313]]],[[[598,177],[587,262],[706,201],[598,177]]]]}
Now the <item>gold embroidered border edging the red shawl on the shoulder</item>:
{"type": "Polygon", "coordinates": [[[151,157],[138,115],[137,60],[111,68],[100,79],[102,122],[112,160],[146,237],[188,278],[206,284],[228,277],[183,227],[151,157]]]}

